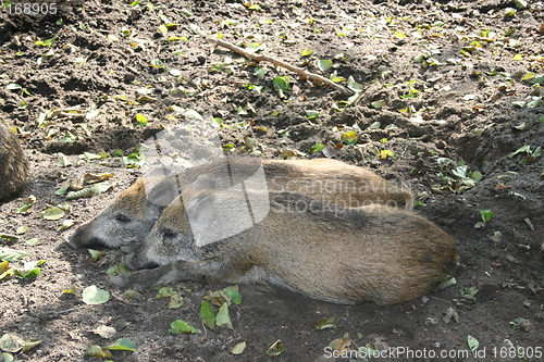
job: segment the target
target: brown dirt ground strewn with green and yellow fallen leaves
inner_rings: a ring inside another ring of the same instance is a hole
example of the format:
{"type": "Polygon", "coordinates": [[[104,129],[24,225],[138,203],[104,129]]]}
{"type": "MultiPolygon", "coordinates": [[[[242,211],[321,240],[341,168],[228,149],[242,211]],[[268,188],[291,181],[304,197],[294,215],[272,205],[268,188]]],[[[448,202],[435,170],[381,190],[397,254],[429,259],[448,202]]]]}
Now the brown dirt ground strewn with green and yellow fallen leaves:
{"type": "Polygon", "coordinates": [[[523,3],[90,0],[60,2],[57,14],[45,16],[0,9],[0,118],[17,129],[32,166],[26,191],[0,205],[0,234],[16,236],[0,238],[0,246],[26,252],[23,261],[47,261],[36,278],[0,282],[0,333],[42,341],[15,359],[97,361],[86,354],[90,346],[124,337],[136,352],[113,351],[110,360],[321,361],[325,347],[348,334],[351,349],[398,353],[391,360],[537,361],[544,348],[544,11],[541,1],[523,3]],[[243,48],[264,45],[261,54],[326,77],[353,77],[361,89],[349,99],[270,63],[244,61],[202,41],[191,25],[243,48]],[[312,53],[302,55],[305,49],[312,53]],[[333,66],[322,72],[319,60],[333,66]],[[280,95],[273,80],[285,76],[289,89],[280,95]],[[125,298],[106,274],[120,253],[92,262],[65,244],[77,225],[59,228],[65,220],[90,220],[139,175],[116,150],[129,155],[184,122],[187,110],[222,118],[223,142],[233,152],[332,157],[407,183],[416,210],[458,241],[457,284],[393,307],[337,305],[242,285],[243,302],[231,307],[234,330],[206,328],[199,317],[203,294],[226,285],[176,285],[184,297],[178,309],[156,299],[157,291],[125,298]],[[347,132],[357,133],[355,143],[343,138],[347,132]],[[82,157],[103,151],[111,157],[82,157]],[[61,152],[71,166],[60,166],[61,152]],[[54,194],[86,173],[112,173],[115,186],[73,201],[54,194]],[[37,199],[30,212],[17,213],[30,195],[37,199]],[[66,201],[72,209],[63,219],[40,217],[66,201]],[[493,217],[474,227],[481,210],[493,217]],[[33,238],[38,242],[26,242],[33,238]],[[81,292],[89,285],[108,289],[111,299],[85,304],[81,292]],[[71,287],[75,295],[63,294],[71,287]],[[478,294],[470,298],[467,290],[478,294]],[[458,321],[446,323],[450,309],[458,321]],[[333,316],[336,328],[316,328],[333,316]],[[201,333],[170,334],[174,320],[201,333]],[[92,333],[102,325],[115,328],[114,336],[92,333]],[[468,336],[478,340],[478,355],[468,352],[468,336]],[[267,355],[277,339],[283,353],[267,355]],[[242,341],[246,349],[233,355],[242,341]],[[440,351],[449,357],[433,354],[440,351]]]}

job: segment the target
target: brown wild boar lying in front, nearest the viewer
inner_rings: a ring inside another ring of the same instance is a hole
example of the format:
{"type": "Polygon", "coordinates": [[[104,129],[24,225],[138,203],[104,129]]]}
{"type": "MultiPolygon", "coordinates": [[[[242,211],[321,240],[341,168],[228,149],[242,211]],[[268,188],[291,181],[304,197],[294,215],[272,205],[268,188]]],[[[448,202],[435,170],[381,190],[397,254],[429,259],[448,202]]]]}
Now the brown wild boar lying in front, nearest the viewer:
{"type": "Polygon", "coordinates": [[[195,229],[215,235],[235,227],[230,214],[245,212],[237,199],[230,190],[186,188],[125,257],[131,269],[151,270],[112,283],[148,288],[177,280],[268,282],[335,303],[394,304],[430,292],[458,259],[453,238],[411,211],[342,208],[293,192],[270,194],[261,222],[199,246],[195,229]]]}

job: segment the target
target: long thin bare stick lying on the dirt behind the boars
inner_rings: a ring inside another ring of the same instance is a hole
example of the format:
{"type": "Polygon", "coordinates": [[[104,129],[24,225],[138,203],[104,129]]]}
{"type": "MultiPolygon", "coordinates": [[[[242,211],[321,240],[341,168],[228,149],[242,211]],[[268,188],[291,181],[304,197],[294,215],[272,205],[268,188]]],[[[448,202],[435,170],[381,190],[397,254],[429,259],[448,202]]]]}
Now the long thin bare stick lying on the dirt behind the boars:
{"type": "Polygon", "coordinates": [[[314,73],[310,73],[310,72],[307,72],[306,70],[301,68],[301,67],[298,67],[298,66],[295,66],[295,65],[292,65],[289,63],[286,63],[284,61],[281,61],[281,60],[277,60],[275,58],[272,58],[272,57],[267,57],[267,55],[257,55],[257,54],[252,54],[250,52],[247,52],[246,50],[242,49],[240,47],[237,47],[233,43],[230,43],[227,41],[224,41],[224,40],[221,40],[221,39],[212,39],[212,38],[209,38],[202,34],[200,34],[202,36],[202,38],[208,41],[208,42],[211,42],[215,46],[219,46],[219,47],[223,47],[223,48],[226,48],[235,53],[238,53],[240,55],[244,55],[246,58],[249,58],[256,62],[270,62],[276,66],[281,66],[281,67],[284,67],[286,70],[289,70],[292,71],[293,73],[296,73],[298,75],[300,75],[300,77],[302,79],[310,79],[310,80],[314,80],[314,82],[318,82],[318,83],[322,83],[322,84],[325,84],[336,90],[339,90],[342,91],[344,95],[353,95],[354,92],[351,90],[349,90],[348,88],[346,87],[343,87],[341,86],[339,84],[336,84],[319,74],[314,74],[314,73]]]}

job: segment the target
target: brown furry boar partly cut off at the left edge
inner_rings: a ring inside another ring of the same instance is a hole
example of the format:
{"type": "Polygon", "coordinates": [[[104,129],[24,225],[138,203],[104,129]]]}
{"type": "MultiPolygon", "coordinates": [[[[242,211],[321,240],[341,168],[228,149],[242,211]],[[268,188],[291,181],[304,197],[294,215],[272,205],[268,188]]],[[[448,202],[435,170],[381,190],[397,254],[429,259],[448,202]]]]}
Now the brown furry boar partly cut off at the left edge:
{"type": "Polygon", "coordinates": [[[0,201],[21,192],[28,178],[28,163],[15,134],[0,123],[0,201]]]}

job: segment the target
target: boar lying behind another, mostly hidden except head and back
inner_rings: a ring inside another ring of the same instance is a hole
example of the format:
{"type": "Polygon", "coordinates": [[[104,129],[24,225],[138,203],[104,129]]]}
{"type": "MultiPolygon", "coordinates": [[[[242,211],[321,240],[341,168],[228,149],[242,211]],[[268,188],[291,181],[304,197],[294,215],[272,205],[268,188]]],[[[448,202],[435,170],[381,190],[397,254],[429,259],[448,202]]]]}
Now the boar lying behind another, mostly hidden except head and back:
{"type": "Polygon", "coordinates": [[[215,187],[227,187],[228,183],[236,184],[251,176],[261,163],[267,179],[264,187],[270,191],[297,192],[342,207],[368,203],[413,207],[413,196],[408,188],[341,161],[228,158],[163,177],[138,179],[110,207],[79,226],[69,242],[75,248],[109,247],[131,252],[151,230],[164,207],[187,185],[203,178],[215,187]]]}

